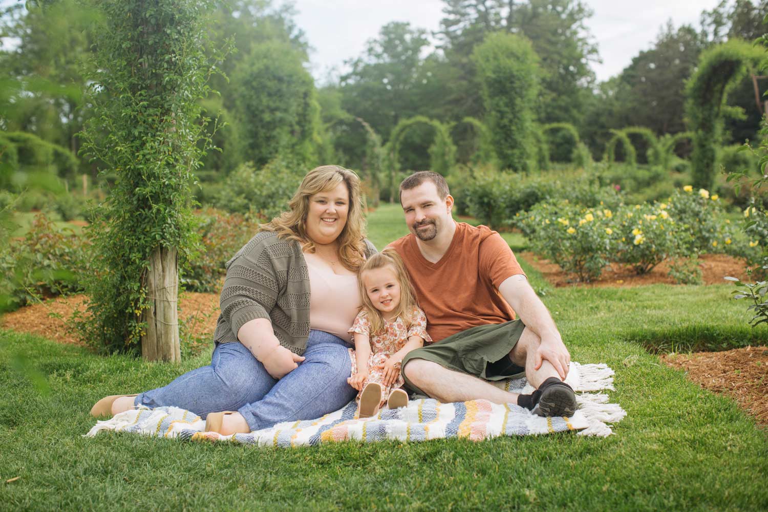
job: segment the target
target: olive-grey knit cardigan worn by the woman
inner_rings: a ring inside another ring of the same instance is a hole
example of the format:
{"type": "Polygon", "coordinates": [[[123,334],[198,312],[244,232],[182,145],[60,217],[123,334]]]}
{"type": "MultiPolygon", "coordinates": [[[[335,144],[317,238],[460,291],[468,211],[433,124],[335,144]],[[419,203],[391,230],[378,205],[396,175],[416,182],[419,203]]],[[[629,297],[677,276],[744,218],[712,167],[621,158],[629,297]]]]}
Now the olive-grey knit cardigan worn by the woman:
{"type": "MultiPolygon", "coordinates": [[[[366,257],[376,247],[366,239],[366,257]]],[[[296,240],[272,231],[257,233],[227,262],[214,342],[237,342],[253,319],[268,319],[280,341],[302,355],[310,335],[310,274],[296,240]]]]}

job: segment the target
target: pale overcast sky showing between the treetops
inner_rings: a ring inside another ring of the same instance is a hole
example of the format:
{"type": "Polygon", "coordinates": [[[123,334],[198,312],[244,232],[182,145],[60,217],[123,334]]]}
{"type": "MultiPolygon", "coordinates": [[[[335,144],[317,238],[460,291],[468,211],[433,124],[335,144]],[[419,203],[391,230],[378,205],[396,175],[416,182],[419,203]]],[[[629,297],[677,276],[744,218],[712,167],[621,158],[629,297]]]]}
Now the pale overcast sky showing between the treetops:
{"type": "MultiPolygon", "coordinates": [[[[720,0],[586,0],[594,12],[587,26],[602,64],[593,64],[598,81],[621,72],[637,52],[650,48],[662,25],[698,28],[704,9],[720,0]]],[[[332,68],[359,56],[389,21],[409,21],[412,27],[436,31],[442,18],[440,0],[296,0],[296,23],[306,32],[315,78],[323,81],[332,68]]]]}

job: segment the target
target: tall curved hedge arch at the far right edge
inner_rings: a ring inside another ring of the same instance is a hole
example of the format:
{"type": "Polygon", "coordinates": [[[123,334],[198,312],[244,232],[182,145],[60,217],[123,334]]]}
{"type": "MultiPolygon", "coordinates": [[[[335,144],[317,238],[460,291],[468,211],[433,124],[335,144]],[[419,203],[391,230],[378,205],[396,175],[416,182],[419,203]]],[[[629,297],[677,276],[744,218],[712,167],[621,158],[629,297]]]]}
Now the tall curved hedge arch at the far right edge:
{"type": "Polygon", "coordinates": [[[738,40],[702,52],[697,70],[686,86],[685,111],[694,134],[691,157],[694,187],[712,187],[728,91],[738,84],[747,69],[758,68],[765,55],[762,46],[738,40]]]}

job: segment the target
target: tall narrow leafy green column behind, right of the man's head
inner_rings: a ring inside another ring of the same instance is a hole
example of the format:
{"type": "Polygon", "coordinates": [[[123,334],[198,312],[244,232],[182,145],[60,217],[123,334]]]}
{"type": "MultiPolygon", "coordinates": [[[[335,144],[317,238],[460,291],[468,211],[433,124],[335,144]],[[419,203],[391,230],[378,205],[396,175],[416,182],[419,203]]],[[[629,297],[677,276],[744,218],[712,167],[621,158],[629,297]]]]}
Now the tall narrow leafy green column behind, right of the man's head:
{"type": "Polygon", "coordinates": [[[475,47],[472,60],[478,69],[485,116],[500,167],[534,170],[539,71],[531,41],[495,32],[475,47]]]}

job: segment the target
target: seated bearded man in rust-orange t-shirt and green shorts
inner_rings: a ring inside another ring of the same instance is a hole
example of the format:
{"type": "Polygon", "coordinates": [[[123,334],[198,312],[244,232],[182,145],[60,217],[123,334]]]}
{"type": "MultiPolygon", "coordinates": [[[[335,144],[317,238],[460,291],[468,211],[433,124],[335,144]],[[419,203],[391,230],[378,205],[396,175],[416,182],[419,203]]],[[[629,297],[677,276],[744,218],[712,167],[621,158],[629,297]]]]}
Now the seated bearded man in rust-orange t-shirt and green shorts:
{"type": "Polygon", "coordinates": [[[485,226],[456,223],[453,197],[438,173],[403,180],[400,203],[411,234],[390,245],[406,263],[435,341],[403,359],[409,391],[443,402],[485,398],[542,416],[573,415],[574,391],[562,382],[571,355],[504,239],[485,226]],[[485,382],[523,375],[537,388],[532,395],[485,382]]]}

